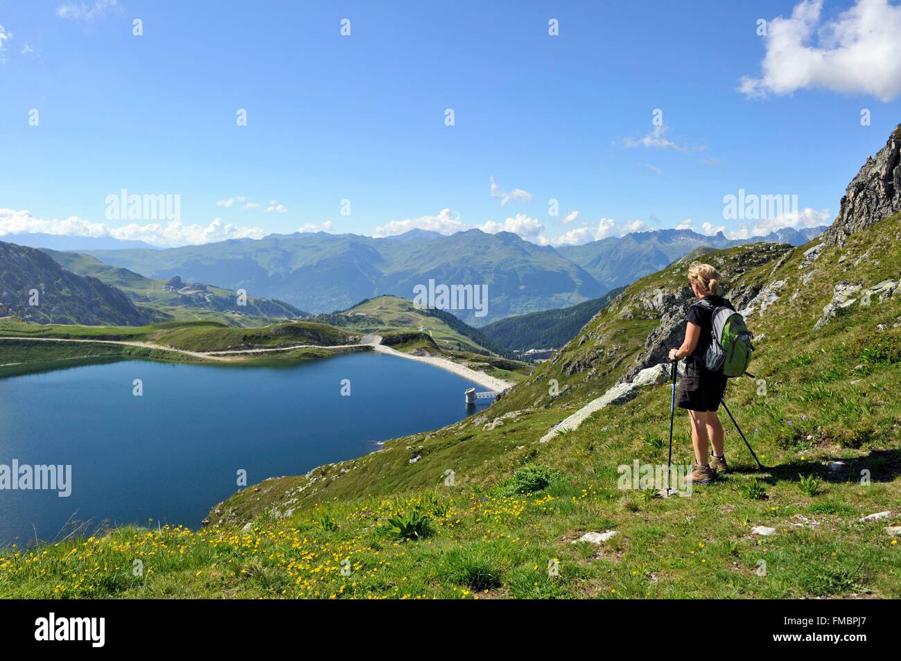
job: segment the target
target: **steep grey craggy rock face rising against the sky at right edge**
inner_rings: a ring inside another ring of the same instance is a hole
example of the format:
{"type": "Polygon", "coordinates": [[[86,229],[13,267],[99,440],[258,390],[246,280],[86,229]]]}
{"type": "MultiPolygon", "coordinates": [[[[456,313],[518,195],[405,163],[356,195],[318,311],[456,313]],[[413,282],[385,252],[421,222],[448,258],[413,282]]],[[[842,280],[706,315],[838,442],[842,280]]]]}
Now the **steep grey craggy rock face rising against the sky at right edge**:
{"type": "Polygon", "coordinates": [[[844,245],[845,240],[869,225],[901,212],[901,124],[875,157],[867,157],[857,177],[842,197],[839,214],[824,231],[826,245],[844,245]]]}

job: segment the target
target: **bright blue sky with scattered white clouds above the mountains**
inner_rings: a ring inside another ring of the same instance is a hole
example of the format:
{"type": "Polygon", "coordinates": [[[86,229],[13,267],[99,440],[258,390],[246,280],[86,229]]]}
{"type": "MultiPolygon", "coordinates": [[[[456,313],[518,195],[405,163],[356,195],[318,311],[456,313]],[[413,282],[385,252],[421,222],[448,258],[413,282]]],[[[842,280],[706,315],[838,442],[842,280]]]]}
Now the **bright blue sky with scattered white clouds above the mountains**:
{"type": "Polygon", "coordinates": [[[831,222],[901,122],[888,0],[0,0],[0,25],[0,234],[759,233],[831,222]],[[123,188],[178,222],[106,217],[123,188]],[[798,213],[740,227],[740,188],[798,213]]]}

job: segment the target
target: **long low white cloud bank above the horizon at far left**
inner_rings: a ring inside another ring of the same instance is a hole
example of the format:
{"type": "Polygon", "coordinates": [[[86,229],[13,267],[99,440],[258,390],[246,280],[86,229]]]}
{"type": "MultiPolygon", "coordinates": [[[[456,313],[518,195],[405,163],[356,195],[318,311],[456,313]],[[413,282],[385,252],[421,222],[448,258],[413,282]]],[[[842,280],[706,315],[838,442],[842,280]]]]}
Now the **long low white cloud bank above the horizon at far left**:
{"type": "Polygon", "coordinates": [[[103,222],[90,222],[77,216],[44,220],[27,211],[0,209],[0,237],[6,234],[32,233],[79,237],[112,237],[118,240],[141,240],[155,246],[183,246],[226,239],[261,239],[265,232],[257,227],[241,227],[215,218],[210,224],[185,224],[171,221],[166,224],[135,222],[122,227],[108,227],[103,222]]]}

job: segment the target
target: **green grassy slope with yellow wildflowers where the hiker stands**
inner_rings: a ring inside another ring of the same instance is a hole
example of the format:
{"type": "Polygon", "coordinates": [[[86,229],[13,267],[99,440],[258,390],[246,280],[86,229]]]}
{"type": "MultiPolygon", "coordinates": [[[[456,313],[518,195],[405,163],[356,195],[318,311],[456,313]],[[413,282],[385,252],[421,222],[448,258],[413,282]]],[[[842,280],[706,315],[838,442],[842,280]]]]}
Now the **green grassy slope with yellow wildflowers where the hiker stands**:
{"type": "MultiPolygon", "coordinates": [[[[727,455],[735,470],[720,483],[698,487],[690,498],[665,501],[618,490],[617,466],[633,459],[666,461],[665,386],[596,413],[577,431],[538,443],[551,423],[613,383],[642,348],[651,320],[624,323],[617,311],[660,279],[684,278],[665,271],[629,287],[589,323],[586,342],[574,340],[564,349],[578,358],[586,344],[599,340],[620,348],[620,354],[598,361],[593,372],[566,375],[565,360],[542,365],[487,415],[396,439],[378,453],[323,466],[309,477],[270,479],[212,512],[218,521],[263,512],[250,530],[232,525],[196,532],[123,529],[36,553],[7,552],[0,558],[0,594],[901,596],[901,545],[882,530],[898,525],[897,513],[893,519],[858,521],[901,502],[896,397],[901,296],[854,306],[823,331],[812,331],[842,278],[874,285],[898,277],[901,218],[851,237],[845,249],[824,251],[806,284],[806,271],[798,270],[802,251],[795,249],[775,274],[775,265],[765,264],[734,283],[787,281],[781,298],[751,324],[758,337],[764,335],[754,371],[766,380],[766,394],[750,379],[733,381],[728,394],[751,443],[773,466],[766,472],[757,472],[741,441],[727,430],[727,455]],[[840,263],[842,254],[847,257],[840,263]],[[800,294],[789,301],[796,290],[800,294]],[[880,323],[886,331],[876,330],[880,323]],[[532,402],[557,376],[570,386],[560,401],[532,402]],[[523,404],[529,410],[511,411],[523,404]],[[483,428],[504,412],[511,415],[502,426],[483,428]],[[417,455],[422,458],[410,464],[417,455]],[[847,467],[831,472],[825,463],[836,457],[847,467]],[[507,483],[523,466],[546,466],[550,484],[532,479],[538,488],[529,491],[529,480],[507,483]],[[443,484],[447,469],[455,472],[453,486],[443,484]],[[860,483],[864,469],[869,485],[860,483]],[[817,476],[822,483],[805,492],[799,475],[817,476]],[[754,480],[765,497],[750,497],[754,480]],[[276,518],[268,512],[273,506],[292,513],[276,518]],[[414,508],[432,517],[434,534],[398,541],[388,520],[414,508]],[[757,525],[777,533],[754,536],[751,527],[757,525]],[[587,530],[619,534],[601,546],[571,543],[587,530]],[[140,577],[131,571],[138,558],[148,568],[140,577]],[[350,575],[341,573],[345,561],[350,575]],[[559,563],[560,575],[549,575],[549,562],[559,563]]],[[[678,463],[690,460],[687,431],[680,416],[678,463]]]]}

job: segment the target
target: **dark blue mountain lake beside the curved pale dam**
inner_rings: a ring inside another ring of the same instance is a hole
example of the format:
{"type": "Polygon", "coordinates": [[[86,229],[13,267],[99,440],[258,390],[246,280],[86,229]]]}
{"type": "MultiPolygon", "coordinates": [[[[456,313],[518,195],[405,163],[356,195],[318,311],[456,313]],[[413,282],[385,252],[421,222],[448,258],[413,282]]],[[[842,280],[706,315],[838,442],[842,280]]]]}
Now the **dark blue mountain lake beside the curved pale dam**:
{"type": "Polygon", "coordinates": [[[239,489],[239,470],[249,485],[297,475],[460,421],[469,387],[485,389],[369,353],[278,367],[124,360],[0,379],[0,465],[72,466],[65,498],[0,489],[0,546],[59,539],[70,518],[87,532],[105,521],[199,526],[239,489]]]}

